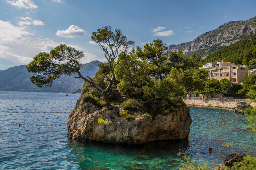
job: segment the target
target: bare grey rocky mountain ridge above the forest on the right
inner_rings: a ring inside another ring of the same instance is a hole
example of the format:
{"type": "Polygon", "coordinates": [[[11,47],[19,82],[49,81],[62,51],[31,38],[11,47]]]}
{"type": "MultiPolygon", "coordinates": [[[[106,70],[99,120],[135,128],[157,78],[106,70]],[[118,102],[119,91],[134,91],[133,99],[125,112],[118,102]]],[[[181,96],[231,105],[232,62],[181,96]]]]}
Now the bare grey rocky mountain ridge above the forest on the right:
{"type": "Polygon", "coordinates": [[[200,35],[193,41],[170,45],[168,51],[180,49],[187,57],[193,53],[204,57],[236,41],[250,38],[254,33],[256,33],[256,17],[246,21],[231,21],[200,35]]]}

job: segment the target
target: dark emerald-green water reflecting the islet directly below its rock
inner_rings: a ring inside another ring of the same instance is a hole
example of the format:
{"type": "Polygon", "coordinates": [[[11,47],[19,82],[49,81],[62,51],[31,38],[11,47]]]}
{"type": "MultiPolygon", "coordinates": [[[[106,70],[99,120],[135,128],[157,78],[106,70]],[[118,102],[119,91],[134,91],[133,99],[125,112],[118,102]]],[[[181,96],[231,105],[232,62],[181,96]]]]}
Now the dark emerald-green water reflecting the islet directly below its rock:
{"type": "Polygon", "coordinates": [[[68,161],[79,169],[166,169],[180,164],[179,151],[189,148],[182,141],[155,141],[144,145],[120,145],[68,139],[68,161]]]}

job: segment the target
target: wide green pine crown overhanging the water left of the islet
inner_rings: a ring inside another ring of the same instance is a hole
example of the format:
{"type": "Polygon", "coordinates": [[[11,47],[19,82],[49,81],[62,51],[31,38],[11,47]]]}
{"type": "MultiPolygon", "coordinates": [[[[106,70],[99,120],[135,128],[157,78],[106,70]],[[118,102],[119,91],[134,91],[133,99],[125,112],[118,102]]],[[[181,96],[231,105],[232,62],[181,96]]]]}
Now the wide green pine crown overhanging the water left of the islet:
{"type": "Polygon", "coordinates": [[[39,88],[51,87],[53,80],[62,74],[72,75],[79,72],[82,66],[79,60],[83,57],[82,52],[63,44],[55,47],[50,54],[39,53],[27,66],[28,72],[33,73],[30,80],[39,88]]]}

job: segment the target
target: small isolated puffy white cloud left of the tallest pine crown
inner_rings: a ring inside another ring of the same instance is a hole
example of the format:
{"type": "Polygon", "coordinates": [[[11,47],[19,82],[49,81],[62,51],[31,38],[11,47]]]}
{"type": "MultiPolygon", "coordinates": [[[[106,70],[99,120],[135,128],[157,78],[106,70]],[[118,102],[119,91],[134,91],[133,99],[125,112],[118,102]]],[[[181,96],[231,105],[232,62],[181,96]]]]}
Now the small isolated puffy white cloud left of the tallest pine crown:
{"type": "Polygon", "coordinates": [[[71,25],[67,30],[58,30],[56,33],[57,36],[75,38],[75,37],[84,37],[86,35],[85,31],[79,28],[78,26],[71,25]]]}

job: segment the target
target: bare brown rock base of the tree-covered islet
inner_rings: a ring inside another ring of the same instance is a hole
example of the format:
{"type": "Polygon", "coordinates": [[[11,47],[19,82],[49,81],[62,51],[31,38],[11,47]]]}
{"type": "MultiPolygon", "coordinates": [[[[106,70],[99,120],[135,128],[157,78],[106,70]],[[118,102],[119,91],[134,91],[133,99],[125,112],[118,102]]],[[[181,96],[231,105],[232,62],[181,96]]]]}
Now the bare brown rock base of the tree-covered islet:
{"type": "Polygon", "coordinates": [[[180,140],[189,137],[191,117],[185,105],[167,115],[152,118],[142,115],[127,120],[119,115],[120,108],[98,108],[84,103],[82,95],[68,117],[68,137],[104,143],[142,144],[156,140],[180,140]],[[98,120],[110,123],[98,123],[98,120]]]}

